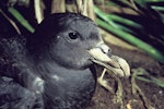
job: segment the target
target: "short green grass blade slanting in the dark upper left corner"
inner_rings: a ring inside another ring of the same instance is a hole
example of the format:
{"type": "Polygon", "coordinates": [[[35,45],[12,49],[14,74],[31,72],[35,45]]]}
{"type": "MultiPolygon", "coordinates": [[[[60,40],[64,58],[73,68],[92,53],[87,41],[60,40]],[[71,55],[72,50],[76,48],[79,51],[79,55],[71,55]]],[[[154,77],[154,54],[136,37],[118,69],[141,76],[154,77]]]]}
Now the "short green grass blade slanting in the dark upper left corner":
{"type": "Polygon", "coordinates": [[[14,8],[9,8],[8,10],[20,23],[23,25],[27,31],[31,33],[34,33],[34,28],[31,26],[31,24],[21,15],[21,13],[15,10],[14,8]]]}

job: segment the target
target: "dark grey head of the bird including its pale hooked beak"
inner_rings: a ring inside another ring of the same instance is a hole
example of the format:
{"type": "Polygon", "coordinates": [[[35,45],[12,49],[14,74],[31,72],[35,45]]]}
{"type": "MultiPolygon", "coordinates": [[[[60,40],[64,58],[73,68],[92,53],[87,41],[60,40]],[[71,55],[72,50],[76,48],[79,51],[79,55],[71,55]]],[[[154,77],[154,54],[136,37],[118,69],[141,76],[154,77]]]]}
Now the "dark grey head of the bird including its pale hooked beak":
{"type": "Polygon", "coordinates": [[[129,75],[127,62],[112,56],[110,48],[104,44],[95,23],[80,14],[51,14],[27,39],[27,49],[36,62],[55,61],[68,69],[85,69],[93,62],[101,62],[121,69],[129,75]],[[126,69],[122,68],[124,64],[126,69]]]}

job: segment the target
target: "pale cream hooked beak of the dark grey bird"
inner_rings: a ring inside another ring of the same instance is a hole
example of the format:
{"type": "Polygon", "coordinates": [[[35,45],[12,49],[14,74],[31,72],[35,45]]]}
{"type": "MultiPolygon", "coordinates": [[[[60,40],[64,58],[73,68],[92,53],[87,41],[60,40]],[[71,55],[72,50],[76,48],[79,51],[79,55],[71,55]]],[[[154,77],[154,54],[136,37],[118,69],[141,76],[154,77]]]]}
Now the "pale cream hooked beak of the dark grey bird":
{"type": "Polygon", "coordinates": [[[130,75],[130,66],[127,61],[120,57],[113,56],[110,48],[103,41],[95,48],[90,49],[89,53],[93,62],[109,69],[115,74],[126,77],[130,75]]]}

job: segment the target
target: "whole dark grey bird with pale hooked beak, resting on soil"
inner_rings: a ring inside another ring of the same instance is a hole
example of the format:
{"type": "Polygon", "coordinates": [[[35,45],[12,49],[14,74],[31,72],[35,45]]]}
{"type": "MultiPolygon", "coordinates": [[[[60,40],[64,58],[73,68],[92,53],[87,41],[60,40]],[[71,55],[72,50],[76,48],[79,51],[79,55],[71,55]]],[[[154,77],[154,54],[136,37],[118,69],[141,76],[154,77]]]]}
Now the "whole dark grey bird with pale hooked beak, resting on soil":
{"type": "Polygon", "coordinates": [[[96,88],[95,64],[129,75],[98,26],[79,13],[54,13],[28,37],[0,36],[0,109],[84,109],[96,88]]]}

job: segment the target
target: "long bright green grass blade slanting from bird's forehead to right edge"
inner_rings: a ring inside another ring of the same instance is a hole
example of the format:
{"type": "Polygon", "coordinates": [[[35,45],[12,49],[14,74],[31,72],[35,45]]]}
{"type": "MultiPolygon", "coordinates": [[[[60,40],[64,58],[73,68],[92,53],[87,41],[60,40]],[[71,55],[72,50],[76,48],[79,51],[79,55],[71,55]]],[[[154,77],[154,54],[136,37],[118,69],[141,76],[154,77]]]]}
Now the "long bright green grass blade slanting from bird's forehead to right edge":
{"type": "Polygon", "coordinates": [[[128,34],[126,32],[122,32],[120,29],[117,29],[110,25],[108,25],[106,22],[96,19],[96,23],[105,28],[106,31],[117,35],[118,37],[127,40],[128,43],[137,46],[138,48],[144,50],[147,53],[149,53],[151,57],[153,57],[154,59],[156,59],[157,61],[164,63],[164,55],[162,55],[159,50],[156,50],[154,47],[145,44],[144,41],[140,40],[139,38],[136,38],[134,36],[132,36],[131,34],[128,34]]]}

